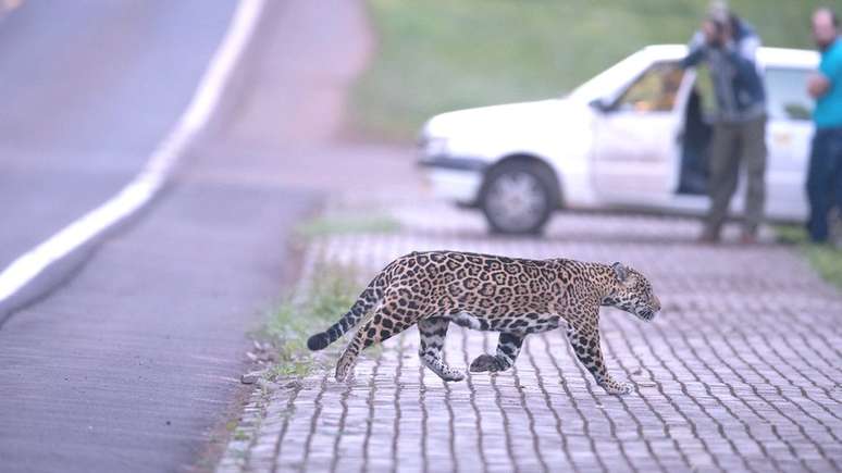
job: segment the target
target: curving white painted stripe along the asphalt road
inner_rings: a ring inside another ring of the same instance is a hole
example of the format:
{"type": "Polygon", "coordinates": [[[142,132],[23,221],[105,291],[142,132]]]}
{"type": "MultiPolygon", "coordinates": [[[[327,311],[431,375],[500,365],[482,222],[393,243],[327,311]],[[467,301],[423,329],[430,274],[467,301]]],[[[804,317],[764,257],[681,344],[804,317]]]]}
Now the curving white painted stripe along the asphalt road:
{"type": "Polygon", "coordinates": [[[0,302],[9,299],[57,260],[144,207],[161,188],[173,165],[208,124],[222,91],[257,25],[264,0],[240,0],[222,43],[175,127],[158,145],[140,174],[120,194],[47,241],[17,258],[0,273],[0,302]]]}

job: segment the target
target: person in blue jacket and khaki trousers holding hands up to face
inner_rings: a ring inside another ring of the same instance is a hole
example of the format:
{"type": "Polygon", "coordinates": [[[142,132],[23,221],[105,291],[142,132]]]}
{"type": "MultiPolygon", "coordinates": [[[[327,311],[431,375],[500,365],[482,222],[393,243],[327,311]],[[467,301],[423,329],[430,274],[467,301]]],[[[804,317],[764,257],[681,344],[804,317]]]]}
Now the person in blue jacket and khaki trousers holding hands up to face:
{"type": "Polygon", "coordinates": [[[745,166],[747,192],[742,241],[754,242],[766,199],[766,89],[756,53],[760,38],[723,2],[715,2],[690,43],[682,67],[707,62],[718,114],[709,149],[708,209],[701,241],[719,240],[745,166]]]}

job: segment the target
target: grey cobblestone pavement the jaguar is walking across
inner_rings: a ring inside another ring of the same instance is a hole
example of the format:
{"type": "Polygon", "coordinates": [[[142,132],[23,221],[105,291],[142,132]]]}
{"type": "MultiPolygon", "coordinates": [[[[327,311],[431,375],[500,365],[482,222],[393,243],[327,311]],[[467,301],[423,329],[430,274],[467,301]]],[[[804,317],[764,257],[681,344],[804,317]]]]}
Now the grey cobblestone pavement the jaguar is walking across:
{"type": "MultiPolygon", "coordinates": [[[[622,261],[664,306],[648,324],[603,310],[606,362],[636,390],[606,395],[560,331],[528,337],[513,370],[445,384],[420,366],[411,329],[348,383],[327,370],[257,390],[220,471],[842,468],[842,296],[792,249],[699,246],[697,222],[680,217],[562,213],[544,238],[509,239],[443,204],[392,212],[401,232],[318,239],[308,269],[324,259],[371,277],[426,249],[622,261]]],[[[467,366],[495,343],[454,325],[446,357],[467,366]]]]}

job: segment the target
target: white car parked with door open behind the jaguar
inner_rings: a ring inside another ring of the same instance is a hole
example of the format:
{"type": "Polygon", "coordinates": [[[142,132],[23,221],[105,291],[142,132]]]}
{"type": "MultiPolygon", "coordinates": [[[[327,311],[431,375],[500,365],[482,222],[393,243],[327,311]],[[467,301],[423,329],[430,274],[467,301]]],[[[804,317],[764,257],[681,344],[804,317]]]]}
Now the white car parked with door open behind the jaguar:
{"type": "MultiPolygon", "coordinates": [[[[561,208],[702,214],[713,90],[679,45],[649,46],[559,99],[430,119],[420,164],[434,194],[483,211],[493,231],[536,233],[561,208]]],[[[766,215],[802,221],[814,51],[760,48],[767,91],[766,215]]],[[[732,201],[739,213],[743,186],[732,201]]]]}

